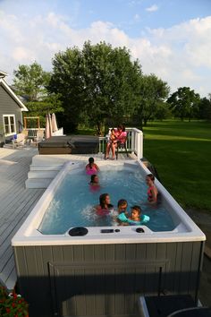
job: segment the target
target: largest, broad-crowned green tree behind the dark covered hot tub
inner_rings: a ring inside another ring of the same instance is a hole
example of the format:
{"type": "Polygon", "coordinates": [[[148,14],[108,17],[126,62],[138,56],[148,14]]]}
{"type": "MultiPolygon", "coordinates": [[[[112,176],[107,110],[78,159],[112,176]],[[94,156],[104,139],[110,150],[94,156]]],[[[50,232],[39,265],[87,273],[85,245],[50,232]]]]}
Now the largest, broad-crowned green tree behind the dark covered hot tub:
{"type": "Polygon", "coordinates": [[[55,55],[49,90],[60,93],[67,122],[86,118],[102,127],[132,114],[139,99],[141,69],[125,47],[105,42],[68,48],[55,55]]]}

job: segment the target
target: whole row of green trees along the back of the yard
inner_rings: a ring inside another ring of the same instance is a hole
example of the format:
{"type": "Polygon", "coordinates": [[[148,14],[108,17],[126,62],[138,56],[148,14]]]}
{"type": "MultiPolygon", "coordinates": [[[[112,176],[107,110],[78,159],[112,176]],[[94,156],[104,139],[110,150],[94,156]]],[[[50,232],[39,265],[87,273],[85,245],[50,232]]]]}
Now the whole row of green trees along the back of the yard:
{"type": "Polygon", "coordinates": [[[100,42],[85,42],[55,54],[53,71],[41,65],[19,65],[13,88],[25,99],[28,116],[45,117],[55,112],[65,133],[79,124],[102,134],[108,125],[136,124],[179,117],[211,120],[211,95],[200,99],[189,87],[169,97],[170,88],[155,74],[143,74],[139,60],[131,61],[126,47],[113,48],[100,42]]]}

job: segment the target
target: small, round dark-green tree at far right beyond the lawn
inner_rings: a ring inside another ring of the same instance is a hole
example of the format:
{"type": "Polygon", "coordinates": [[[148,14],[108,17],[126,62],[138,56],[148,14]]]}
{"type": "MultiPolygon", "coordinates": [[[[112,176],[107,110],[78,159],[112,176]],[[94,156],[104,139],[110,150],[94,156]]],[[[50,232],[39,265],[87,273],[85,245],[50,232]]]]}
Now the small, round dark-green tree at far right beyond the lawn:
{"type": "Polygon", "coordinates": [[[198,93],[195,93],[194,90],[190,90],[190,87],[179,88],[173,92],[167,100],[173,115],[180,117],[181,120],[184,118],[190,120],[192,117],[197,116],[199,101],[200,97],[198,93]]]}

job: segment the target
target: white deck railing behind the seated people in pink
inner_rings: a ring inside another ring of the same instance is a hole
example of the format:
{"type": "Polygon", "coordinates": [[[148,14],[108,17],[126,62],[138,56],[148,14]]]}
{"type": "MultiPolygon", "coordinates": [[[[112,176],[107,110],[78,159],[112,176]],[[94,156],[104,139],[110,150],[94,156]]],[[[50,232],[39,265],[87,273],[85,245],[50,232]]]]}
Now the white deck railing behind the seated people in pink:
{"type": "MultiPolygon", "coordinates": [[[[110,128],[111,129],[111,128],[110,128]]],[[[109,129],[109,130],[110,130],[109,129]]],[[[143,158],[143,133],[137,128],[126,128],[127,150],[135,154],[137,159],[143,158]]],[[[99,137],[99,153],[105,153],[106,137],[99,137]]]]}

